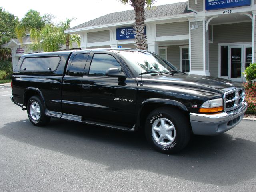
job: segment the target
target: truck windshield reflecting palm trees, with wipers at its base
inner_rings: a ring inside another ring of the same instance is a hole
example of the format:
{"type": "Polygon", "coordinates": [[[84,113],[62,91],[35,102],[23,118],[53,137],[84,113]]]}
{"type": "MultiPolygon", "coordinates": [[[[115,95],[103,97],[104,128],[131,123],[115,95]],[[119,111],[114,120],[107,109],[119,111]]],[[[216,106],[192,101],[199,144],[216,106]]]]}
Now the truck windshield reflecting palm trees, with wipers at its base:
{"type": "Polygon", "coordinates": [[[118,53],[129,66],[132,67],[135,76],[140,74],[161,74],[161,73],[179,73],[180,71],[174,67],[170,62],[161,58],[160,56],[146,52],[143,50],[138,51],[124,51],[118,53]]]}

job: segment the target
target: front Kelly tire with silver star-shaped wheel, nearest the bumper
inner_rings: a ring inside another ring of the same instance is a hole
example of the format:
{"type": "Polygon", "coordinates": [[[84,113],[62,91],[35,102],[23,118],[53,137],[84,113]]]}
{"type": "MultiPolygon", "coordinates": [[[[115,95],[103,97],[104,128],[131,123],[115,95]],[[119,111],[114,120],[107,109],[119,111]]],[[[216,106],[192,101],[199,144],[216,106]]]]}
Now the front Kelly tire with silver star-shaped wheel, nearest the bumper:
{"type": "Polygon", "coordinates": [[[174,154],[189,142],[190,124],[188,118],[178,109],[158,108],[146,118],[147,140],[159,152],[174,154]]]}

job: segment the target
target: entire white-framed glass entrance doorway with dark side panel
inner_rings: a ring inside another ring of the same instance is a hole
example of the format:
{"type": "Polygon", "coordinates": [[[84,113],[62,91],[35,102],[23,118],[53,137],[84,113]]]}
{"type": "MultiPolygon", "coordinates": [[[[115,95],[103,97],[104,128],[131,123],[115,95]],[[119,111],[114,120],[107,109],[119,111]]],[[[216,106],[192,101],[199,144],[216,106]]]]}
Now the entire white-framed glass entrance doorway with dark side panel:
{"type": "Polygon", "coordinates": [[[245,82],[243,72],[252,62],[252,45],[220,45],[219,53],[219,77],[245,82]]]}

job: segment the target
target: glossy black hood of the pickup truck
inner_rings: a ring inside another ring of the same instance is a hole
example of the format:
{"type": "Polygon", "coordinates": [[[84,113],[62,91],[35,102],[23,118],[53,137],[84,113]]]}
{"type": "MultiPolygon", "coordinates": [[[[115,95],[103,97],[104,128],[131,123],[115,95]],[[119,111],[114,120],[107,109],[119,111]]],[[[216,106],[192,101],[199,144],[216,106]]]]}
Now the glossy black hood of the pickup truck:
{"type": "MultiPolygon", "coordinates": [[[[140,81],[140,78],[136,78],[140,81]]],[[[142,76],[142,82],[155,82],[164,84],[175,84],[181,86],[189,86],[195,88],[201,88],[205,90],[211,90],[219,93],[242,88],[242,84],[234,81],[230,81],[223,78],[214,78],[212,76],[202,75],[188,75],[188,74],[174,74],[172,75],[146,75],[142,76]]]]}

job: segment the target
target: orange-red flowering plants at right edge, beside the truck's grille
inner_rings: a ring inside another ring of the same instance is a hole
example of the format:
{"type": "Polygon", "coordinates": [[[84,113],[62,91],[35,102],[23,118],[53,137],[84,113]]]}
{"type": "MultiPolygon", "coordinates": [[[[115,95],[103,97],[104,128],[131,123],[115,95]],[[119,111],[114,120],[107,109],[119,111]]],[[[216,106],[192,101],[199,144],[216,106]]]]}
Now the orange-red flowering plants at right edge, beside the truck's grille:
{"type": "Polygon", "coordinates": [[[245,101],[248,104],[246,114],[256,114],[256,83],[244,84],[245,87],[245,101]]]}

